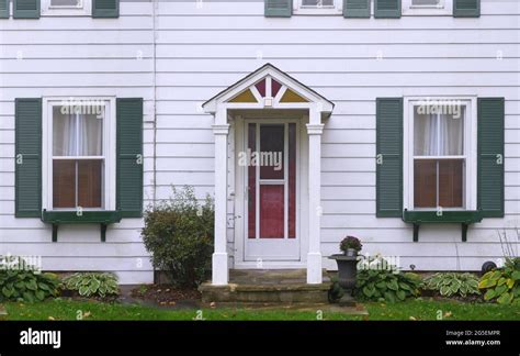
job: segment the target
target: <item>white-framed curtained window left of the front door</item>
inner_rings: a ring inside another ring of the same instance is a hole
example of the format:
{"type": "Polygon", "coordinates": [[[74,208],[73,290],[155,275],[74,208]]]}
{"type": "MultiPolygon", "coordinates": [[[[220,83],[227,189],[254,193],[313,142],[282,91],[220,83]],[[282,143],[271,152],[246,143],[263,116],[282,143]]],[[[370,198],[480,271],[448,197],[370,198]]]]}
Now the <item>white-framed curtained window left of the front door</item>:
{"type": "Polygon", "coordinates": [[[46,208],[113,209],[115,140],[111,102],[68,100],[49,101],[47,105],[46,208]]]}

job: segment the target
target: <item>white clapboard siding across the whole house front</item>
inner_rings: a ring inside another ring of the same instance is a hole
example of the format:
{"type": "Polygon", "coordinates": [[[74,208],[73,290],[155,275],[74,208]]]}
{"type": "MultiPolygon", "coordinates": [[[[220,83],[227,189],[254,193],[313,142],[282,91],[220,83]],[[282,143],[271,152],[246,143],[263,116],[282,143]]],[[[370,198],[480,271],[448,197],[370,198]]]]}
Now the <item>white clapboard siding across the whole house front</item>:
{"type": "MultiPolygon", "coordinates": [[[[200,105],[264,63],[272,63],[336,104],[323,136],[321,252],[347,234],[372,254],[400,256],[417,269],[479,269],[501,257],[497,231],[520,226],[520,5],[483,1],[479,19],[399,20],[298,16],[265,19],[262,1],[160,1],[157,23],[157,137],[145,125],[145,204],[154,192],[192,185],[213,194],[214,138],[200,105]],[[497,59],[501,58],[501,59],[497,59]],[[400,96],[506,98],[506,216],[470,227],[410,225],[375,218],[375,98],[400,96]]],[[[151,3],[122,1],[121,18],[0,20],[0,253],[39,254],[57,270],[117,271],[124,282],[151,280],[142,221],[109,227],[63,226],[59,242],[37,219],[15,219],[14,98],[143,97],[152,121],[151,3]],[[16,59],[22,54],[22,60],[16,59]],[[140,58],[140,59],[139,59],[140,58]],[[139,266],[142,264],[142,267],[139,266]]],[[[234,207],[228,252],[234,254],[234,207]]],[[[335,267],[324,258],[326,267],[335,267]]]]}

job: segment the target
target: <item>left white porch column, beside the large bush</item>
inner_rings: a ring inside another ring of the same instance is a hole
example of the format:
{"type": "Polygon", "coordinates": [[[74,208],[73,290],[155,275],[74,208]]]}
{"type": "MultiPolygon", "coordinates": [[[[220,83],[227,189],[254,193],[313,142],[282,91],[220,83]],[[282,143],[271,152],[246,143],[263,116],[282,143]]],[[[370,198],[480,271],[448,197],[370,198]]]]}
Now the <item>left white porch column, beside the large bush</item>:
{"type": "Polygon", "coordinates": [[[213,125],[215,134],[215,252],[212,257],[212,285],[228,283],[227,267],[227,124],[226,110],[218,111],[213,125]]]}

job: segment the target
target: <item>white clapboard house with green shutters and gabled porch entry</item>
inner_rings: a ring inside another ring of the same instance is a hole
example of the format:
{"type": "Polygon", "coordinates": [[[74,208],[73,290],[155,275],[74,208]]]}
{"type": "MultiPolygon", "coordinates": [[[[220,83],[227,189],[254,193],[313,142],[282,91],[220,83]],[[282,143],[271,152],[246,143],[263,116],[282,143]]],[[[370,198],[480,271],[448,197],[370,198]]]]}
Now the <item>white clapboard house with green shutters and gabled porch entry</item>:
{"type": "Polygon", "coordinates": [[[214,285],[319,283],[346,235],[479,270],[518,248],[519,29],[513,0],[0,0],[0,255],[151,282],[143,210],[191,185],[214,285]]]}

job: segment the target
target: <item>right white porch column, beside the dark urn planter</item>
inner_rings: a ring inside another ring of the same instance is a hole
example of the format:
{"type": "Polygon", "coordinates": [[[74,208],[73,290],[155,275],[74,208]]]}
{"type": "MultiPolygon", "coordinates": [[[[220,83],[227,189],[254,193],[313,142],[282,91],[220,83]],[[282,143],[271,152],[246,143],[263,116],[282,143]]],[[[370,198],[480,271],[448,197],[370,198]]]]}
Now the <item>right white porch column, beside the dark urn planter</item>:
{"type": "Polygon", "coordinates": [[[320,112],[310,109],[308,133],[308,254],[307,283],[318,285],[321,276],[320,218],[321,218],[321,124],[320,112]]]}

